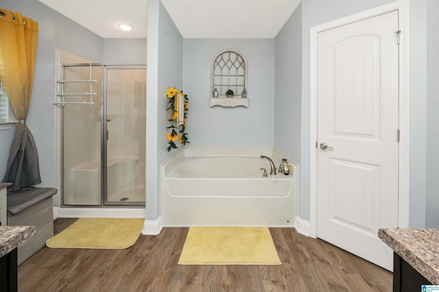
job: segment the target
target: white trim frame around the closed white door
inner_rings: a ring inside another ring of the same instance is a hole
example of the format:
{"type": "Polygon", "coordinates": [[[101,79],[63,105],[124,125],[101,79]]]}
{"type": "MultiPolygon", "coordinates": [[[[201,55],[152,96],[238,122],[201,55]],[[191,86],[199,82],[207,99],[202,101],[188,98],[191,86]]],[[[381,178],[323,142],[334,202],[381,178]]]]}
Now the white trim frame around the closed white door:
{"type": "MultiPolygon", "coordinates": [[[[309,104],[309,193],[310,193],[310,226],[309,236],[317,237],[317,52],[318,34],[328,29],[348,25],[357,21],[399,11],[399,29],[401,30],[399,45],[399,200],[398,227],[409,227],[409,188],[410,188],[410,38],[408,0],[399,0],[364,12],[359,12],[342,19],[311,27],[309,32],[310,47],[310,104],[309,104]]],[[[396,138],[396,133],[395,133],[396,138]]]]}

